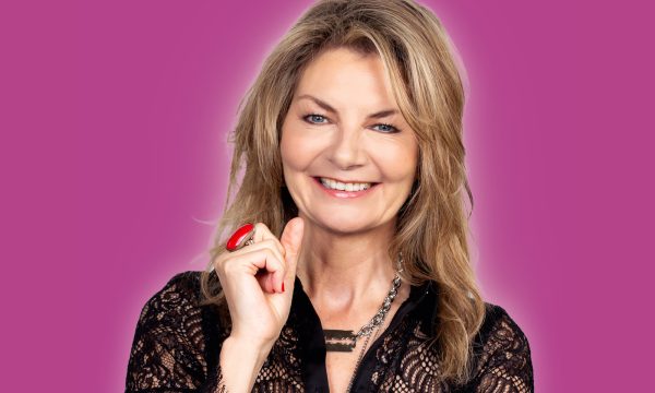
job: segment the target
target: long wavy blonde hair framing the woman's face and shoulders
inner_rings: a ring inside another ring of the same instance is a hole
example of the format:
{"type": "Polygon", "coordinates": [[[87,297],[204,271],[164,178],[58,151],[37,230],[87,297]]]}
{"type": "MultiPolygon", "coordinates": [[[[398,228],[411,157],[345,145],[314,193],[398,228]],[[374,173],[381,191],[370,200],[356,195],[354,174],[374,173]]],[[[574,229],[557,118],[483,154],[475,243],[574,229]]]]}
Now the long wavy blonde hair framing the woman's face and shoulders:
{"type": "MultiPolygon", "coordinates": [[[[239,105],[212,261],[225,252],[225,234],[242,223],[264,223],[281,236],[298,214],[284,184],[282,122],[303,69],[323,50],[337,47],[381,58],[398,108],[416,133],[417,180],[398,212],[389,253],[392,260],[403,253],[405,282],[438,283],[440,323],[431,344],[440,349],[441,378],[463,382],[485,314],[467,243],[466,202],[473,209],[473,196],[462,142],[464,90],[444,28],[414,1],[319,1],[274,48],[239,105]]],[[[202,275],[203,303],[218,305],[224,297],[211,267],[202,275]]]]}

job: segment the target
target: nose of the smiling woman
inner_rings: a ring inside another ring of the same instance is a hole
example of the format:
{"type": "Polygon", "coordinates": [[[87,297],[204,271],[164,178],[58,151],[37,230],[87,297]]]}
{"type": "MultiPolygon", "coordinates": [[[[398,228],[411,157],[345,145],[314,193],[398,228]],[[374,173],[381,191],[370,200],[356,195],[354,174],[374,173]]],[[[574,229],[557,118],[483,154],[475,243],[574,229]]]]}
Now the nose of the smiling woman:
{"type": "Polygon", "coordinates": [[[354,169],[366,164],[362,133],[356,127],[338,127],[334,133],[329,160],[342,170],[354,169]]]}

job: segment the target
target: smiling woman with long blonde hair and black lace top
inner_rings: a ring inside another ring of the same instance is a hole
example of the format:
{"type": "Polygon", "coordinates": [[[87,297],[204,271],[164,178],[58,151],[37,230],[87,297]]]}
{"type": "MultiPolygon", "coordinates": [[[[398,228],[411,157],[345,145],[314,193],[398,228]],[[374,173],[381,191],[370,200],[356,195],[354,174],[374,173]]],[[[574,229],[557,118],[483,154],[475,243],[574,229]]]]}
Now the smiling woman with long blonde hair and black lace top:
{"type": "Polygon", "coordinates": [[[469,265],[463,105],[427,9],[313,5],[242,104],[211,265],[145,305],[127,391],[532,392],[469,265]]]}

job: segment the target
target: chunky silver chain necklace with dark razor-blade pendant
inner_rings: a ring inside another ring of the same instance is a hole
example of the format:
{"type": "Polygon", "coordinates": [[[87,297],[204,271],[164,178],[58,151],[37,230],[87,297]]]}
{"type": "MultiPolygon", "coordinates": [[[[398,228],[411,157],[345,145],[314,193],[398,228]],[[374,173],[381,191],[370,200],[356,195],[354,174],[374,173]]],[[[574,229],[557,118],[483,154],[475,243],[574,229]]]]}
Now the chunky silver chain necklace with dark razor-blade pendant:
{"type": "MultiPolygon", "coordinates": [[[[398,265],[401,264],[401,261],[402,260],[398,260],[398,265]]],[[[402,271],[402,269],[398,269],[395,276],[393,277],[391,289],[389,290],[389,294],[386,294],[386,296],[384,297],[384,301],[382,302],[382,306],[380,307],[378,312],[373,315],[373,318],[367,324],[361,326],[361,329],[359,329],[359,331],[357,333],[353,333],[353,331],[336,330],[336,329],[323,331],[323,333],[325,335],[325,348],[327,350],[330,350],[330,352],[353,352],[353,349],[355,349],[355,346],[357,345],[357,340],[359,340],[359,337],[361,337],[361,336],[367,336],[367,343],[368,343],[368,338],[370,337],[371,332],[373,331],[373,329],[376,329],[377,326],[379,326],[382,323],[382,321],[384,320],[384,317],[386,317],[386,313],[389,312],[389,309],[391,308],[391,303],[393,302],[393,299],[395,299],[396,295],[398,294],[398,287],[401,286],[401,276],[400,276],[401,271],[402,271]]],[[[365,345],[365,347],[366,347],[366,345],[365,345]]]]}

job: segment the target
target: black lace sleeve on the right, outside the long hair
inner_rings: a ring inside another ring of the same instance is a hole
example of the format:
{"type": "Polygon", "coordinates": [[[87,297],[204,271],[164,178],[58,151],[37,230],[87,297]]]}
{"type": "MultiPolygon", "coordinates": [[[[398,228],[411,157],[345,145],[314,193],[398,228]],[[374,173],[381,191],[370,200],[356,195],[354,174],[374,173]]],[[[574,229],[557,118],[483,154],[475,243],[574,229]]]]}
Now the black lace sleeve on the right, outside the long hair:
{"type": "Polygon", "coordinates": [[[476,367],[476,393],[532,393],[533,367],[527,337],[502,308],[487,306],[480,330],[481,354],[476,367]]]}

